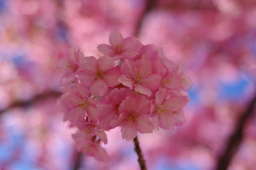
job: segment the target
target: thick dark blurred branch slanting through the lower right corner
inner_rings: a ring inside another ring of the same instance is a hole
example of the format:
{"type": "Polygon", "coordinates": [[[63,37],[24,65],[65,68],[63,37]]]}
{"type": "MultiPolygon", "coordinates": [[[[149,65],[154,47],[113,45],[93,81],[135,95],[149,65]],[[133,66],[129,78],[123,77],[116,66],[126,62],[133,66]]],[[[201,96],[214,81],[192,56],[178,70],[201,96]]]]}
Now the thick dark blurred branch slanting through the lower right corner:
{"type": "Polygon", "coordinates": [[[218,159],[216,170],[225,170],[228,168],[232,157],[234,157],[237,149],[239,148],[239,145],[243,141],[243,130],[246,125],[246,121],[253,116],[255,104],[256,94],[255,97],[253,97],[252,101],[248,104],[248,107],[243,112],[241,118],[239,118],[239,120],[237,121],[236,128],[234,129],[234,132],[232,133],[232,135],[230,135],[230,138],[227,141],[227,148],[218,159]]]}

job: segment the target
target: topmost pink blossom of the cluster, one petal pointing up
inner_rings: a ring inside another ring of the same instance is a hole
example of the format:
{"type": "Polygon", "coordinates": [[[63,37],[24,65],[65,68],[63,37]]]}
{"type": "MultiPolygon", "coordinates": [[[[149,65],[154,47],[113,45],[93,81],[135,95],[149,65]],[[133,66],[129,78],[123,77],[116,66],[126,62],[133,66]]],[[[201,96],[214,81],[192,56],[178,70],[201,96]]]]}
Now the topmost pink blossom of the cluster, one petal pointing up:
{"type": "Polygon", "coordinates": [[[113,31],[110,34],[109,43],[110,45],[100,44],[98,50],[113,59],[133,58],[138,54],[138,50],[141,47],[141,43],[133,36],[123,38],[119,31],[113,31]]]}

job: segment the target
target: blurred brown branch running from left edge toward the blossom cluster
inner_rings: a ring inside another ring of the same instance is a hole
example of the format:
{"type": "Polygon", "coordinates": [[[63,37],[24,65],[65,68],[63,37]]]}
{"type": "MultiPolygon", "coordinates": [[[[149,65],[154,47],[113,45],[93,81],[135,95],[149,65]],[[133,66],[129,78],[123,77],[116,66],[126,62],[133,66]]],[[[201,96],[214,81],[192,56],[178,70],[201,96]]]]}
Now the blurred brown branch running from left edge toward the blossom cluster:
{"type": "Polygon", "coordinates": [[[60,97],[60,95],[61,95],[61,93],[58,91],[46,91],[44,93],[35,95],[35,97],[33,97],[27,101],[16,100],[12,104],[10,104],[8,107],[0,110],[0,115],[3,114],[4,112],[14,109],[16,107],[28,107],[29,105],[35,104],[36,102],[40,102],[42,100],[46,100],[46,99],[52,98],[52,97],[57,98],[57,97],[60,97]]]}

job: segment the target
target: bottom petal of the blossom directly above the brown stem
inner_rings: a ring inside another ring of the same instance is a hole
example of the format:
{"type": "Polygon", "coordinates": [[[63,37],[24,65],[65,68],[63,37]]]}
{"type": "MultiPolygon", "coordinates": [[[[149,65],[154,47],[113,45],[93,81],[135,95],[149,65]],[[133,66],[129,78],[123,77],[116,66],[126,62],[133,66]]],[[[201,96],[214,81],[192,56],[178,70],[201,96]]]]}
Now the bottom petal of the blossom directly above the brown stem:
{"type": "Polygon", "coordinates": [[[125,122],[121,125],[122,138],[126,141],[131,141],[136,137],[136,125],[134,123],[125,122]]]}

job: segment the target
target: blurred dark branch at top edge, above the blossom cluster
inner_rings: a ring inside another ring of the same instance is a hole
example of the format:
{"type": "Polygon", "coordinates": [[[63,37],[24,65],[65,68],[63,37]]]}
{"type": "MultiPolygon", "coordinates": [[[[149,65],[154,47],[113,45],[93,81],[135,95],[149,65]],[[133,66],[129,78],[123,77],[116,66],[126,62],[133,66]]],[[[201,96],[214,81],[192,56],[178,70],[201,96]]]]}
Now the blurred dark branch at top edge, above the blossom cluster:
{"type": "Polygon", "coordinates": [[[141,27],[143,24],[143,20],[145,19],[145,16],[151,12],[154,8],[156,8],[156,0],[147,0],[145,1],[145,8],[143,10],[143,13],[141,14],[140,18],[138,19],[138,22],[134,29],[134,35],[138,36],[141,32],[141,27]]]}

